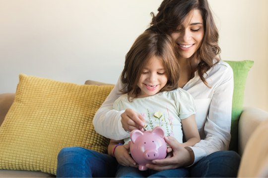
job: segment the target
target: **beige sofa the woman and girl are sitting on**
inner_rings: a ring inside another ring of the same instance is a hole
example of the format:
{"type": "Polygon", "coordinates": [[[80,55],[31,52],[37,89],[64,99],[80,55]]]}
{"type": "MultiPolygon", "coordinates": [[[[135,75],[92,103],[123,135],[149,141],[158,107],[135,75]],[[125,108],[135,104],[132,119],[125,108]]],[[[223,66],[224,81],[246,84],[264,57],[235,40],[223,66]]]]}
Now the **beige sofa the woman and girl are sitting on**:
{"type": "MultiPolygon", "coordinates": [[[[112,84],[104,84],[91,80],[86,81],[85,85],[113,86],[112,84]]],[[[0,94],[0,126],[14,101],[14,98],[15,93],[0,94]]],[[[268,112],[259,108],[244,107],[238,124],[238,153],[241,156],[243,156],[244,149],[252,133],[261,122],[267,119],[268,112]]],[[[0,170],[0,178],[56,178],[56,176],[40,171],[0,170]]]]}

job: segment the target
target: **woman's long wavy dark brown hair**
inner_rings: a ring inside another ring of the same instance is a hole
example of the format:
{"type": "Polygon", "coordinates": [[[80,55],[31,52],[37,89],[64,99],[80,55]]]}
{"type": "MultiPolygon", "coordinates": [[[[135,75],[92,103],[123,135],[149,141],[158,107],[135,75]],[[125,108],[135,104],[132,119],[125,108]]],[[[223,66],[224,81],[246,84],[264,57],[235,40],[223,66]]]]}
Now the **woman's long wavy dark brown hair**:
{"type": "MultiPolygon", "coordinates": [[[[199,10],[204,26],[204,37],[200,48],[193,57],[200,61],[198,74],[207,86],[203,75],[220,60],[221,52],[218,46],[218,30],[209,9],[207,0],[164,0],[158,8],[157,15],[152,12],[152,21],[147,31],[171,35],[182,25],[186,16],[193,10],[199,10]],[[213,60],[216,60],[214,63],[213,60]]],[[[193,71],[192,71],[193,72],[193,71]]]]}

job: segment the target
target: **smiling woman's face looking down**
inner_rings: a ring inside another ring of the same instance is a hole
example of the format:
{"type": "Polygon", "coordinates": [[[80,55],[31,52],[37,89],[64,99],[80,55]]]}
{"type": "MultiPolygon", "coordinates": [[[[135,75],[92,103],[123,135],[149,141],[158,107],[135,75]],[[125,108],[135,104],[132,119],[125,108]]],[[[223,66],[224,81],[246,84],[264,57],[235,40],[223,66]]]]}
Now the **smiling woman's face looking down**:
{"type": "Polygon", "coordinates": [[[203,19],[199,10],[189,13],[171,37],[177,43],[181,57],[191,57],[201,46],[204,37],[203,19]]]}

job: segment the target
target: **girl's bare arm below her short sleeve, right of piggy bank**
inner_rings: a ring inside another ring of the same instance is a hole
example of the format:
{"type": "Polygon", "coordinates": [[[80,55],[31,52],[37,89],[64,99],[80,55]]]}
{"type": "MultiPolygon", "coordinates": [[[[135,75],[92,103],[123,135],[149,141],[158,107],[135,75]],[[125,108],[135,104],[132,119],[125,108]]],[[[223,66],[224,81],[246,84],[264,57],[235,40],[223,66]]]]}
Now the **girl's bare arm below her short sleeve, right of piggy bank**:
{"type": "Polygon", "coordinates": [[[200,142],[200,135],[197,128],[195,115],[191,115],[188,118],[182,119],[182,129],[186,142],[182,143],[182,146],[194,146],[200,142]]]}

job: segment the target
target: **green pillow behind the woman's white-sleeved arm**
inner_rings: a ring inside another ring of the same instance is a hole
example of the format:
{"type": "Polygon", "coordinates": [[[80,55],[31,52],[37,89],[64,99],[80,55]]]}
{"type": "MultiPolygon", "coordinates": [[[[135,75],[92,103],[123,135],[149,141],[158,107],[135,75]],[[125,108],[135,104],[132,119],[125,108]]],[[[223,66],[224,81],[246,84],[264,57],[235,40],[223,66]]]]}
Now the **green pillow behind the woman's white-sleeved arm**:
{"type": "Polygon", "coordinates": [[[243,110],[244,90],[247,76],[254,61],[225,61],[234,71],[234,94],[232,102],[232,121],[231,121],[231,142],[229,149],[238,150],[238,121],[243,110]]]}

